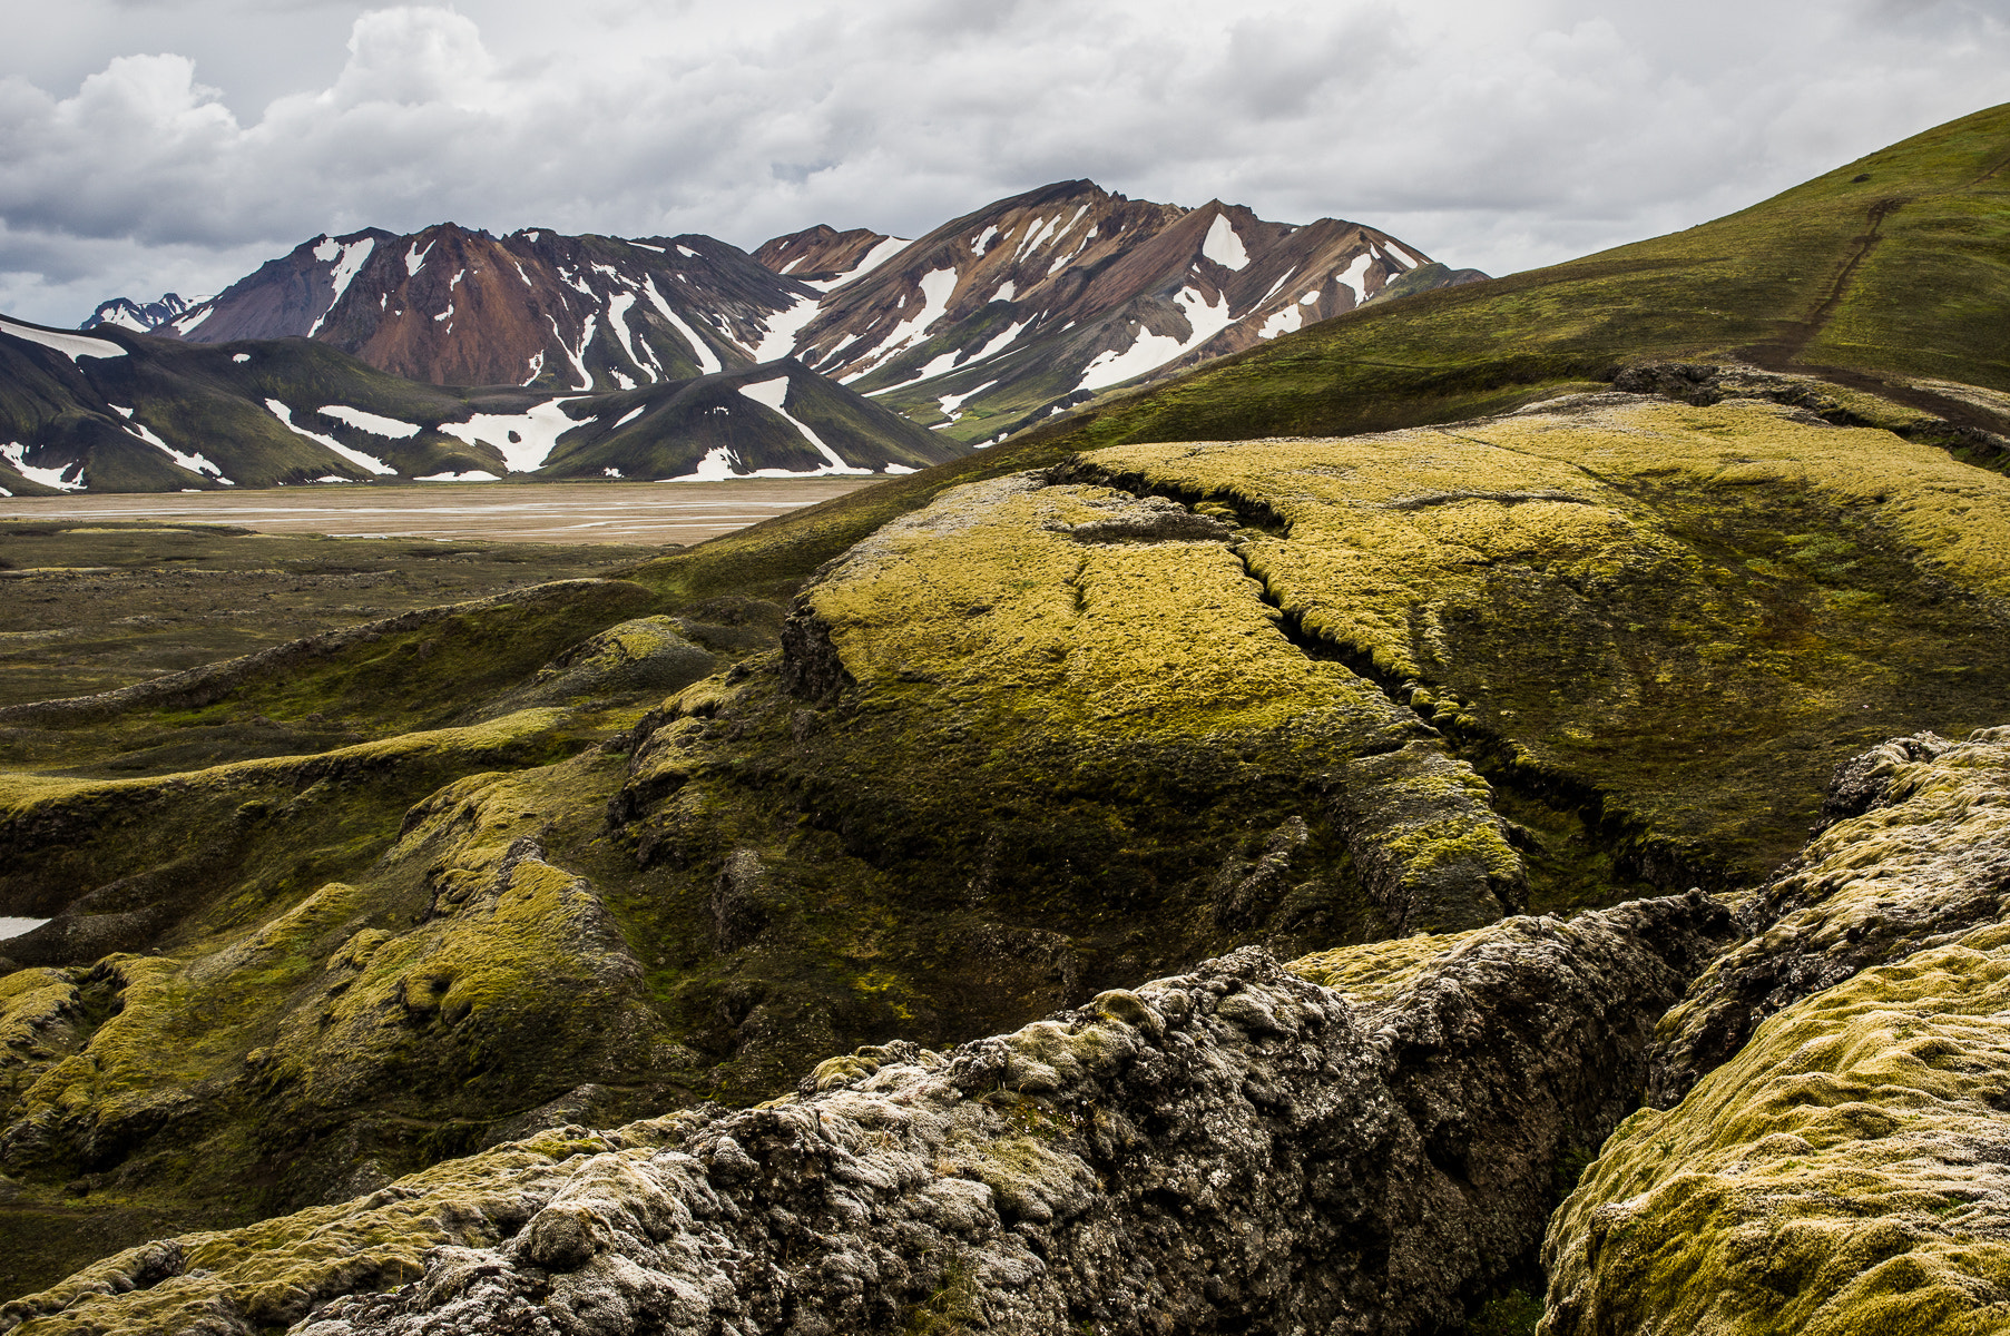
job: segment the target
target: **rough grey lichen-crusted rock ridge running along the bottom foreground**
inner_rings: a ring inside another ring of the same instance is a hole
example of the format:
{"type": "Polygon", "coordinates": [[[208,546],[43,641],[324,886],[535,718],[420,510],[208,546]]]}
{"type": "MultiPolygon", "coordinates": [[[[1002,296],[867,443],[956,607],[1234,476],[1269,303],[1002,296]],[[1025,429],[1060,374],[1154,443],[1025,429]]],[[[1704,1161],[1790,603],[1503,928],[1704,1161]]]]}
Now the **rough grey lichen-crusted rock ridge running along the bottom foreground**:
{"type": "Polygon", "coordinates": [[[135,1250],[0,1314],[304,1336],[1439,1328],[1536,1244],[1558,1161],[1624,1113],[1654,1017],[1727,926],[1700,894],[1514,918],[1413,940],[1409,986],[1363,1000],[1238,950],[947,1055],[860,1049],[760,1109],[559,1133],[563,1165],[549,1139],[502,1147],[135,1250]],[[364,1242],[372,1213],[440,1244],[422,1274],[388,1256],[410,1234],[364,1242]]]}

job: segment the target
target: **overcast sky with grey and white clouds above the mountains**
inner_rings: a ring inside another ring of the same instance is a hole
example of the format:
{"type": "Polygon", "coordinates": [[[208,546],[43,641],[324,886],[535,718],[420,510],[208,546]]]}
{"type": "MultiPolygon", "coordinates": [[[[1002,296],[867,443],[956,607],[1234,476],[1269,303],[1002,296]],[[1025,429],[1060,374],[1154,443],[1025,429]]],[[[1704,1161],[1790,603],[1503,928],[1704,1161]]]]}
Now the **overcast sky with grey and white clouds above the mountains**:
{"type": "Polygon", "coordinates": [[[2010,100],[2010,0],[0,0],[0,311],[452,219],[915,235],[1091,177],[1510,273],[2010,100]]]}

